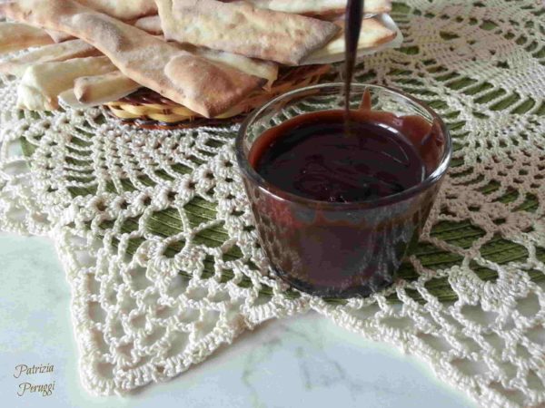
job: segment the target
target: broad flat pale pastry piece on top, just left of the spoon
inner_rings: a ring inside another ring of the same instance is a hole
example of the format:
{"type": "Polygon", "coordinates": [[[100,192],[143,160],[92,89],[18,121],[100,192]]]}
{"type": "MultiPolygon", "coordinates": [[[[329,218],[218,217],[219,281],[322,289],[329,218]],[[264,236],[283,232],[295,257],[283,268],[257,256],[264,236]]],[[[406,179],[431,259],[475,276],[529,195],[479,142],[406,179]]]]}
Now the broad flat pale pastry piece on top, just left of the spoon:
{"type": "Polygon", "coordinates": [[[299,65],[337,34],[330,22],[216,0],[157,0],[167,40],[299,65]],[[250,40],[249,40],[250,39],[250,40]]]}

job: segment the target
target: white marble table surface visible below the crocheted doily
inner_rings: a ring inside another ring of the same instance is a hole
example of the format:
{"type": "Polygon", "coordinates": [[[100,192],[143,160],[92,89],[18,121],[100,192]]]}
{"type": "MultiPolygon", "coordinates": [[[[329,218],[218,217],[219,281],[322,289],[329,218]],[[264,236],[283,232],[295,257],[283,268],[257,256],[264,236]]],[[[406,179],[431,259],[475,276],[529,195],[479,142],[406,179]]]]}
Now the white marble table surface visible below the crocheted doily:
{"type": "Polygon", "coordinates": [[[203,364],[128,397],[94,397],[79,381],[70,291],[54,245],[0,234],[0,395],[4,407],[474,407],[426,364],[309,314],[242,335],[203,364]],[[52,373],[15,378],[18,364],[52,373]],[[49,396],[25,382],[51,384],[49,396]]]}

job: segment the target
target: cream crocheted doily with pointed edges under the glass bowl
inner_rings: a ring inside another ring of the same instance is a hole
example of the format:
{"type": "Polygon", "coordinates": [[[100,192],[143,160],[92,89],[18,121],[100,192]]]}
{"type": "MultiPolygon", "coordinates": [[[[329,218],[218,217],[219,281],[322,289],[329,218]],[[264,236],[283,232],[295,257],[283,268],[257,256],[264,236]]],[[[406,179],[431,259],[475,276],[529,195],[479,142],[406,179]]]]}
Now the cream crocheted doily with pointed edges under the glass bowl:
{"type": "Polygon", "coordinates": [[[367,299],[300,295],[270,275],[236,126],[22,112],[16,82],[0,79],[0,228],[54,239],[90,392],[171,378],[248,328],[312,309],[420,356],[483,406],[545,403],[544,6],[407,0],[392,16],[405,43],[367,58],[357,80],[430,103],[456,152],[419,248],[367,299]]]}

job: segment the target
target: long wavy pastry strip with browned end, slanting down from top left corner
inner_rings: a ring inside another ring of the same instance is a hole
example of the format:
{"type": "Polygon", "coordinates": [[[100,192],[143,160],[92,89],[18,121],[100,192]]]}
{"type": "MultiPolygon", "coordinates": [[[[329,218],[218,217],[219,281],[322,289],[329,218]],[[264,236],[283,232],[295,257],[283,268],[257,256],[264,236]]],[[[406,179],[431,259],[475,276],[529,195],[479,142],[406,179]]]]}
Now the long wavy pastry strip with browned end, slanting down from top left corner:
{"type": "Polygon", "coordinates": [[[10,18],[83,39],[135,82],[206,117],[226,111],[263,83],[72,0],[21,0],[2,6],[10,18]]]}

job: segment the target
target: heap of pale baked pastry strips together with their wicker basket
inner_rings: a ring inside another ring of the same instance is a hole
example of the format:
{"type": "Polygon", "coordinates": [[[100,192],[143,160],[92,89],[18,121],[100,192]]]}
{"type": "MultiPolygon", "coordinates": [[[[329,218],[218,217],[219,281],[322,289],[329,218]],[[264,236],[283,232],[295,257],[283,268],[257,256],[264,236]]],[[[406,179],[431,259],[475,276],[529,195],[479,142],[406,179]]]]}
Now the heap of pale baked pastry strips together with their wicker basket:
{"type": "MultiPolygon", "coordinates": [[[[8,1],[0,73],[20,77],[21,109],[106,104],[144,124],[236,118],[342,59],[346,1],[8,1]]],[[[396,37],[390,6],[365,2],[361,51],[396,37]]]]}

